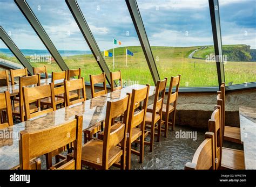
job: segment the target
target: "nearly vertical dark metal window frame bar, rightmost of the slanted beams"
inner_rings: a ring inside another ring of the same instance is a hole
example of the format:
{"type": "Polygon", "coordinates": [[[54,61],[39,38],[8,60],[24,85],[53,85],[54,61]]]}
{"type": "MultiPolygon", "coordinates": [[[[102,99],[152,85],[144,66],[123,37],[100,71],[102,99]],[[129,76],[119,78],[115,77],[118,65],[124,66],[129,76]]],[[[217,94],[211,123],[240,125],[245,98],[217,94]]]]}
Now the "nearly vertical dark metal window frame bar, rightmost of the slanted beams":
{"type": "Polygon", "coordinates": [[[220,29],[220,14],[219,14],[219,1],[218,0],[208,0],[211,25],[212,25],[212,35],[213,44],[215,51],[215,60],[218,74],[219,88],[221,83],[225,82],[224,73],[224,63],[223,63],[223,50],[222,50],[222,40],[221,40],[221,29],[220,29]]]}

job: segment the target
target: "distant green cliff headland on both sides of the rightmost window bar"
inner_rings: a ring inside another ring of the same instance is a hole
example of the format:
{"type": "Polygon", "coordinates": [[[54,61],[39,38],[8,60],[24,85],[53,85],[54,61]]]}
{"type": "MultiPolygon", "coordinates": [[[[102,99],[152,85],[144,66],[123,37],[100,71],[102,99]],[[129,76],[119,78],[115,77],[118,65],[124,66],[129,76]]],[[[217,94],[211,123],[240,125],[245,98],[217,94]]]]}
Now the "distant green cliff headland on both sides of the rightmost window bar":
{"type": "MultiPolygon", "coordinates": [[[[223,55],[227,56],[227,61],[252,61],[250,47],[247,45],[223,45],[223,55]]],[[[206,46],[204,49],[199,49],[193,57],[205,59],[206,55],[215,54],[213,46],[206,46]]]]}

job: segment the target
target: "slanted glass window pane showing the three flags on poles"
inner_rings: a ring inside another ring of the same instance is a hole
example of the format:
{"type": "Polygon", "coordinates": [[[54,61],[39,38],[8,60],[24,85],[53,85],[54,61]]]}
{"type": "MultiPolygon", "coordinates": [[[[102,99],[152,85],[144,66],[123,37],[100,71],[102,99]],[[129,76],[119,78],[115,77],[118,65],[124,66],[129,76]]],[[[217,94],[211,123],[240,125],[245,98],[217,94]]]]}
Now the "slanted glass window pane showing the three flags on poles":
{"type": "Polygon", "coordinates": [[[153,85],[125,1],[79,0],[78,4],[100,51],[105,51],[105,61],[110,71],[121,70],[124,85],[153,85]]]}

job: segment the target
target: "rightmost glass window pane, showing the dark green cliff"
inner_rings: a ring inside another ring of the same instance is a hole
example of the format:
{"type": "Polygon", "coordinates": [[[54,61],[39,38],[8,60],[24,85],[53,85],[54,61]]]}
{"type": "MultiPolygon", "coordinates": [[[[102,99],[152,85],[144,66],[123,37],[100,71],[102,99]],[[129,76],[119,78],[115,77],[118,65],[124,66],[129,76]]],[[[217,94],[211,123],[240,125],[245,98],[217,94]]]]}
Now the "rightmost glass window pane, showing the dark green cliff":
{"type": "Polygon", "coordinates": [[[226,85],[256,81],[256,3],[220,0],[226,85]]]}

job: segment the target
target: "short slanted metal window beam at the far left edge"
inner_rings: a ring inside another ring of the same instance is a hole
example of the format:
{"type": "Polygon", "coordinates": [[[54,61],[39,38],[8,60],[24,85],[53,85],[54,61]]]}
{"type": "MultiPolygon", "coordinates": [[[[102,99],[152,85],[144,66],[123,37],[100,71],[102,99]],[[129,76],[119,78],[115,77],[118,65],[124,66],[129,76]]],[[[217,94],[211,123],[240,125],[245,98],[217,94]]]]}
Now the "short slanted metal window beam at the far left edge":
{"type": "MultiPolygon", "coordinates": [[[[0,26],[0,39],[4,42],[4,44],[10,49],[12,54],[15,55],[15,57],[18,59],[19,62],[21,62],[22,66],[28,68],[28,71],[31,75],[33,75],[33,67],[29,63],[28,60],[26,60],[25,56],[22,54],[21,51],[19,51],[18,47],[15,45],[14,41],[11,40],[9,35],[5,32],[4,28],[0,26]]],[[[15,68],[16,67],[11,67],[15,68]]]]}

